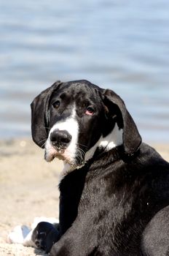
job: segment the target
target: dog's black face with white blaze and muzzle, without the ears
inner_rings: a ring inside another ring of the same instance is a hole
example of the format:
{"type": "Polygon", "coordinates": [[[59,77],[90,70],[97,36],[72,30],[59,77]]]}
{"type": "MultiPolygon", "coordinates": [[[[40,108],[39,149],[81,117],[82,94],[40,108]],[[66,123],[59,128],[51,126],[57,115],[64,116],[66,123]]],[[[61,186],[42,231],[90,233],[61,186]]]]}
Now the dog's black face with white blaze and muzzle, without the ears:
{"type": "Polygon", "coordinates": [[[45,159],[51,161],[58,157],[73,166],[82,165],[87,160],[86,153],[103,135],[107,122],[105,111],[95,87],[87,83],[60,86],[50,99],[45,159]]]}

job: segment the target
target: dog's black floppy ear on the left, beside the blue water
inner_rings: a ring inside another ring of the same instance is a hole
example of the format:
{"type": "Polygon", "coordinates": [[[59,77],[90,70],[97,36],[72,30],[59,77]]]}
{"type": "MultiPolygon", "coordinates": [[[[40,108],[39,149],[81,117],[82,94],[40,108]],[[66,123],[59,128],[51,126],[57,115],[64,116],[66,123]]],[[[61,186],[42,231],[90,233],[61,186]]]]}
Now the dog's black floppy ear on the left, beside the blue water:
{"type": "Polygon", "coordinates": [[[47,140],[49,125],[49,102],[53,91],[58,89],[61,82],[55,82],[50,88],[42,91],[31,103],[31,133],[34,142],[44,148],[47,140]]]}

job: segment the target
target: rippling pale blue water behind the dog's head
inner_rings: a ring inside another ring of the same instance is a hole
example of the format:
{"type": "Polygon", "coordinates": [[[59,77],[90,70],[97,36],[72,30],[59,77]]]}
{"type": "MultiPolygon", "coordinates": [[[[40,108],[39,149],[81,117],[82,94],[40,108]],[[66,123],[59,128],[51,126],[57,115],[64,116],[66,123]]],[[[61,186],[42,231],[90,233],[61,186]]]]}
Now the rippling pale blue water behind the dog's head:
{"type": "Polygon", "coordinates": [[[116,91],[146,142],[169,142],[168,0],[0,2],[0,137],[31,136],[55,80],[116,91]]]}

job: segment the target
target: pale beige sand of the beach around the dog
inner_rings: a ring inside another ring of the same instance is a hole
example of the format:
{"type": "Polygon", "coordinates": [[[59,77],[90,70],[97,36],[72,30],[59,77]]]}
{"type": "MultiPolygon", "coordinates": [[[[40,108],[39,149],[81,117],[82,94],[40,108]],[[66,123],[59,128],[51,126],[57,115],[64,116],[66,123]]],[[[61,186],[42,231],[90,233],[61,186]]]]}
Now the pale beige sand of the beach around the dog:
{"type": "MultiPolygon", "coordinates": [[[[169,160],[168,145],[153,145],[169,160]]],[[[58,218],[58,182],[62,162],[44,161],[44,151],[31,140],[0,142],[0,256],[45,255],[7,236],[17,225],[31,226],[35,217],[58,218]]]]}

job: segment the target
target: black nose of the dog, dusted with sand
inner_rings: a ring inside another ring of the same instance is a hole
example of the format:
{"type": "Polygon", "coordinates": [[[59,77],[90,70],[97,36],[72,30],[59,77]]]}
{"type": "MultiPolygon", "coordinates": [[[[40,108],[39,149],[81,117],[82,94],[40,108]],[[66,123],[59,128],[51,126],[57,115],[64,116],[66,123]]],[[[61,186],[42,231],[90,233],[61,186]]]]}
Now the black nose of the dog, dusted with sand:
{"type": "Polygon", "coordinates": [[[58,148],[66,148],[71,141],[71,135],[66,130],[55,129],[50,134],[52,145],[58,148]]]}

